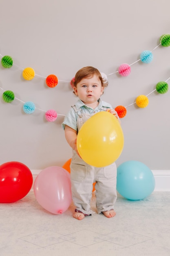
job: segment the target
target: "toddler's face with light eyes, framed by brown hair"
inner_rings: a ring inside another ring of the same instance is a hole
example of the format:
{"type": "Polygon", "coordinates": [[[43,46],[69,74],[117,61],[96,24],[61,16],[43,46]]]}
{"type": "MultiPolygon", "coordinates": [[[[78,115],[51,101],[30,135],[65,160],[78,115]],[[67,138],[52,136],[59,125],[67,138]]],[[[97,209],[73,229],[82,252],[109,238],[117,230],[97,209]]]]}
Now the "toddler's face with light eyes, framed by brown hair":
{"type": "Polygon", "coordinates": [[[93,75],[90,78],[82,79],[77,83],[77,87],[74,87],[73,89],[75,95],[88,106],[97,102],[103,94],[104,87],[102,87],[102,83],[97,75],[93,75]]]}

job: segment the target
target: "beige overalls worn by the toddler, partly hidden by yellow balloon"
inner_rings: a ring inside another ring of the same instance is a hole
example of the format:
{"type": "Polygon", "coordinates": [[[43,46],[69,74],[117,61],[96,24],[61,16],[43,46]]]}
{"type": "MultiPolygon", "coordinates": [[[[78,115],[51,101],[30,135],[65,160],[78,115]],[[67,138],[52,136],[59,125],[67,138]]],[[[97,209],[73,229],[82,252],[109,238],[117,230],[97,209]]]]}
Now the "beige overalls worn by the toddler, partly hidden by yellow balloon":
{"type": "MultiPolygon", "coordinates": [[[[79,131],[84,122],[94,114],[84,114],[81,108],[77,110],[75,106],[72,107],[78,114],[77,128],[79,131]]],[[[105,111],[106,108],[102,107],[100,110],[105,111]]],[[[115,163],[102,168],[90,166],[73,150],[70,168],[71,191],[73,203],[76,206],[75,211],[80,211],[85,215],[95,213],[91,210],[90,206],[94,182],[96,182],[95,196],[97,212],[101,213],[102,211],[114,209],[117,200],[117,167],[115,163]]]]}

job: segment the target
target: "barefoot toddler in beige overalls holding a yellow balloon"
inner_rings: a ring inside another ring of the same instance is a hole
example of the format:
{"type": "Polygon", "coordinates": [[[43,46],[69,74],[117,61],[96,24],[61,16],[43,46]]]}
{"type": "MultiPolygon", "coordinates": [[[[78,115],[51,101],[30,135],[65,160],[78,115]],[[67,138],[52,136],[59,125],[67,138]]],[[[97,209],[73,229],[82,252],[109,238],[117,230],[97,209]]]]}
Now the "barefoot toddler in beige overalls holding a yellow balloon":
{"type": "Polygon", "coordinates": [[[102,168],[90,166],[79,156],[76,146],[77,133],[84,122],[99,111],[108,111],[119,119],[117,112],[109,103],[100,99],[104,88],[108,86],[106,79],[95,67],[83,67],[75,74],[73,90],[79,100],[67,113],[62,123],[65,137],[73,149],[71,159],[71,191],[76,207],[73,217],[82,220],[85,216],[95,213],[91,210],[93,183],[95,184],[97,213],[107,218],[115,216],[114,205],[117,200],[116,164],[102,168]]]}

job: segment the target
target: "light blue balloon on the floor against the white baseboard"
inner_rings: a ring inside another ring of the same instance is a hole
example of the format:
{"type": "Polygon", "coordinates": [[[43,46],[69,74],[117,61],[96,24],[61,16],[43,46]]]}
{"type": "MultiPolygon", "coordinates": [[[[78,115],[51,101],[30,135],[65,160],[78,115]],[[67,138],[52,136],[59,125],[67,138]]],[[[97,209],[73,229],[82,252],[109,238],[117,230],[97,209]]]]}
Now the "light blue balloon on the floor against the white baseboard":
{"type": "Polygon", "coordinates": [[[141,200],[155,189],[155,177],[145,164],[127,161],[117,168],[117,191],[124,198],[141,200]]]}

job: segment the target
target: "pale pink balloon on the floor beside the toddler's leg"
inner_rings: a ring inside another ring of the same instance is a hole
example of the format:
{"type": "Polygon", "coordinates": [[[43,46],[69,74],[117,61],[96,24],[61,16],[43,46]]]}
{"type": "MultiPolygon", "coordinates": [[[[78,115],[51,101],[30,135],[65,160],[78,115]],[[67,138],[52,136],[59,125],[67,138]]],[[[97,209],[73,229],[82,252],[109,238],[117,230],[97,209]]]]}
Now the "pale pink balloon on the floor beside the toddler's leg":
{"type": "Polygon", "coordinates": [[[70,173],[59,166],[45,168],[35,179],[34,194],[38,203],[47,211],[64,213],[71,204],[70,173]]]}

